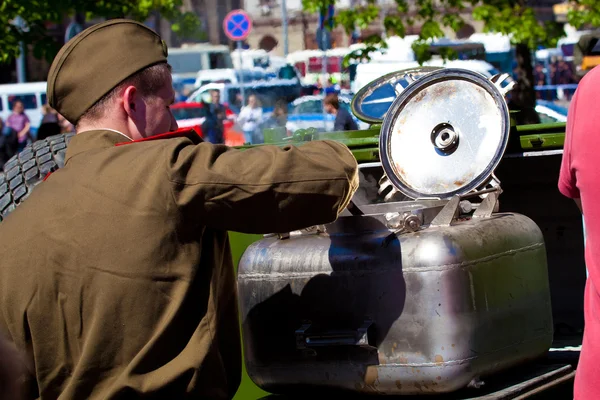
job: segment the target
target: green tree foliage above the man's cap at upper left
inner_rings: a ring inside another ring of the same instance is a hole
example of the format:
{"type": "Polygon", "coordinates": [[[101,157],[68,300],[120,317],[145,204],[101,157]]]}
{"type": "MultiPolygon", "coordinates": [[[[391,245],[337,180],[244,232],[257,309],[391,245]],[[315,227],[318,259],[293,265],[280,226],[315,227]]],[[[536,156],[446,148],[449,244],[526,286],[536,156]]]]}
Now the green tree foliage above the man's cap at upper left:
{"type": "Polygon", "coordinates": [[[200,34],[200,21],[181,11],[182,0],[0,0],[0,62],[20,54],[19,42],[31,45],[34,55],[51,60],[62,43],[47,35],[48,23],[84,13],[86,19],[127,17],[145,21],[158,12],[172,22],[173,31],[182,35],[200,34]],[[20,17],[25,28],[16,25],[20,17]]]}

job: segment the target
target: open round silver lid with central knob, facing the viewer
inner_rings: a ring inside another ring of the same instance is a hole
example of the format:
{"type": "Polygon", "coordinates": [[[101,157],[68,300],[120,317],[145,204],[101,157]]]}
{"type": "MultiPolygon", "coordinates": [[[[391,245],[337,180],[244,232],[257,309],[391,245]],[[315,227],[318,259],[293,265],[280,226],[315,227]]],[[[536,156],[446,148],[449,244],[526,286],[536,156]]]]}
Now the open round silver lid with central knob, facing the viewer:
{"type": "Polygon", "coordinates": [[[447,199],[486,183],[510,130],[501,81],[440,69],[413,82],[387,112],[379,138],[387,177],[407,196],[447,199]]]}

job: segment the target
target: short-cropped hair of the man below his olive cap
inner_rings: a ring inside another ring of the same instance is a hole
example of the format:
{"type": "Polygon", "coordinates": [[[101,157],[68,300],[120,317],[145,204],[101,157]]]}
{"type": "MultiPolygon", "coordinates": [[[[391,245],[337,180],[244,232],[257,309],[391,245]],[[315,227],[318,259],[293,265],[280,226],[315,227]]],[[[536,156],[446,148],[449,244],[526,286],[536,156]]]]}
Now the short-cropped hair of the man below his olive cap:
{"type": "Polygon", "coordinates": [[[160,63],[144,68],[140,72],[133,74],[123,82],[119,83],[113,90],[102,96],[100,100],[90,107],[85,114],[79,118],[77,125],[82,121],[95,121],[102,118],[106,113],[108,106],[118,97],[128,86],[135,86],[142,97],[152,97],[162,88],[165,81],[169,79],[171,66],[167,63],[160,63]]]}

